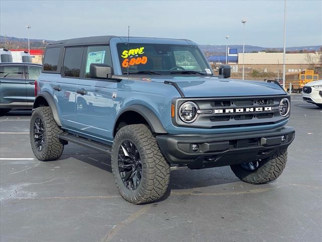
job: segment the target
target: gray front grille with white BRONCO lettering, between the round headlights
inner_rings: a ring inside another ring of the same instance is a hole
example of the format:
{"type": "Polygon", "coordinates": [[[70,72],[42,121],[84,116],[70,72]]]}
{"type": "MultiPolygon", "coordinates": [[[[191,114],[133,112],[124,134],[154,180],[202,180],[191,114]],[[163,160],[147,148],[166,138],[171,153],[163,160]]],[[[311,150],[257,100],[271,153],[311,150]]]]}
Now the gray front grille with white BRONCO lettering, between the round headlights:
{"type": "Polygon", "coordinates": [[[274,124],[287,118],[279,113],[279,103],[285,97],[287,95],[176,99],[177,108],[185,101],[193,101],[201,112],[195,122],[191,124],[184,123],[178,115],[173,119],[173,122],[177,126],[209,129],[274,124]]]}

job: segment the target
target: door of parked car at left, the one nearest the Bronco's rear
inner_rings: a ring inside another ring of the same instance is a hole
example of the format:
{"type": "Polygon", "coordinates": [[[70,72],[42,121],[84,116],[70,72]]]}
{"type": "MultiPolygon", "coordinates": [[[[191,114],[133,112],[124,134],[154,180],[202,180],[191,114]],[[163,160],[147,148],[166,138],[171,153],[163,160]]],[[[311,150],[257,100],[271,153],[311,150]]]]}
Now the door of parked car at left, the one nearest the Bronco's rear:
{"type": "Polygon", "coordinates": [[[27,105],[32,106],[35,100],[35,81],[40,76],[41,67],[26,65],[25,73],[27,105]]]}

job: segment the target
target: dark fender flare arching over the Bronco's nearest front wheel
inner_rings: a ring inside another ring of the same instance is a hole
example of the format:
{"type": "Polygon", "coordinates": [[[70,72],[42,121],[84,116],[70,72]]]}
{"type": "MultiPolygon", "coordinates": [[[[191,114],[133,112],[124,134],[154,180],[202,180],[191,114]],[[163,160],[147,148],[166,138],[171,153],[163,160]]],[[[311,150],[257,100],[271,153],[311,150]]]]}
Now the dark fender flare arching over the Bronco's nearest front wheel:
{"type": "Polygon", "coordinates": [[[114,134],[115,129],[116,129],[115,125],[117,124],[117,120],[126,111],[134,111],[134,112],[139,113],[146,120],[146,122],[150,126],[150,128],[151,128],[151,130],[152,130],[153,133],[156,133],[156,134],[168,134],[168,132],[165,130],[165,128],[163,127],[163,125],[160,122],[160,120],[154,114],[154,112],[151,111],[151,109],[149,109],[146,106],[143,106],[141,104],[133,104],[133,105],[130,105],[130,106],[124,108],[116,116],[115,123],[114,123],[114,127],[113,127],[113,134],[114,134]]]}

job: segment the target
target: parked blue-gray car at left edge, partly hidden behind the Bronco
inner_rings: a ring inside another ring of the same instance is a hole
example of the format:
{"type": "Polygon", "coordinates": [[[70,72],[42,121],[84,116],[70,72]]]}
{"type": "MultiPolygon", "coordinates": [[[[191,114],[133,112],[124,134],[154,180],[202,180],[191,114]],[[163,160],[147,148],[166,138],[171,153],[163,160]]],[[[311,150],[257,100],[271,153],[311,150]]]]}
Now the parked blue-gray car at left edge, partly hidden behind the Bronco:
{"type": "Polygon", "coordinates": [[[12,108],[32,108],[41,67],[32,63],[0,63],[0,113],[12,108]]]}

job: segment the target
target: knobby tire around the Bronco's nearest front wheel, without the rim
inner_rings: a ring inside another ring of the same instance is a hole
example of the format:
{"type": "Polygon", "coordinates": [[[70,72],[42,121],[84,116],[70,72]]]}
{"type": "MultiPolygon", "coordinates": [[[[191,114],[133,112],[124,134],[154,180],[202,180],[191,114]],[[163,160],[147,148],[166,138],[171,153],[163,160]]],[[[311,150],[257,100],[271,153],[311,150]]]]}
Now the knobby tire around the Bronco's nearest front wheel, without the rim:
{"type": "Polygon", "coordinates": [[[170,166],[147,126],[138,124],[121,128],[114,138],[111,160],[115,184],[126,201],[133,204],[151,203],[159,200],[167,192],[170,166]],[[141,181],[135,190],[130,190],[124,185],[118,168],[119,148],[125,140],[134,143],[142,163],[141,181]]]}

